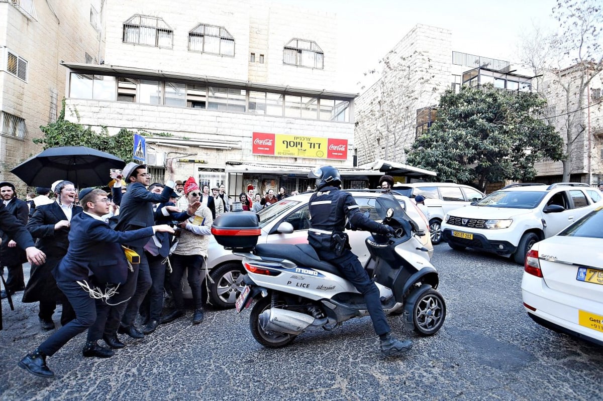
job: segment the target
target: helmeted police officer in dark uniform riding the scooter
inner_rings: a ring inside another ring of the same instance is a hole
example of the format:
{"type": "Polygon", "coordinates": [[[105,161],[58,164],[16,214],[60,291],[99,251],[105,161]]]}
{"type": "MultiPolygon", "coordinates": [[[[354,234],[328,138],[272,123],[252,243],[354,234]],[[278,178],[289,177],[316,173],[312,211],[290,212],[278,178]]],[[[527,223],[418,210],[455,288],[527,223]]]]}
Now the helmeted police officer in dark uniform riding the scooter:
{"type": "Polygon", "coordinates": [[[341,175],[335,167],[317,167],[308,177],[317,181],[317,191],[312,194],[309,203],[311,228],[308,230],[308,242],[321,260],[337,266],[343,277],[352,282],[364,296],[374,331],[379,335],[381,352],[394,355],[408,351],[412,347],[412,341],[400,341],[390,335],[391,329],[385,319],[379,290],[368,277],[358,256],[350,251],[347,234],[344,232],[346,218],[356,229],[377,234],[393,234],[395,230],[368,219],[359,210],[352,194],[339,190],[341,175]]]}

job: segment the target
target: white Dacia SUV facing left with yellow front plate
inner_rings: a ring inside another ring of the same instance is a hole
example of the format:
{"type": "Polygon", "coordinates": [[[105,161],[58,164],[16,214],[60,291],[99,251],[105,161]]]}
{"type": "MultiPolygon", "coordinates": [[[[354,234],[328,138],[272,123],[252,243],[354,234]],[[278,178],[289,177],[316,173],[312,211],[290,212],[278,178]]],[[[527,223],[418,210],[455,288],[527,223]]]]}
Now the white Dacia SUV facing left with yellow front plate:
{"type": "Polygon", "coordinates": [[[512,184],[474,205],[451,211],[442,236],[452,249],[472,247],[514,256],[523,264],[528,250],[595,208],[593,188],[579,182],[512,184]]]}

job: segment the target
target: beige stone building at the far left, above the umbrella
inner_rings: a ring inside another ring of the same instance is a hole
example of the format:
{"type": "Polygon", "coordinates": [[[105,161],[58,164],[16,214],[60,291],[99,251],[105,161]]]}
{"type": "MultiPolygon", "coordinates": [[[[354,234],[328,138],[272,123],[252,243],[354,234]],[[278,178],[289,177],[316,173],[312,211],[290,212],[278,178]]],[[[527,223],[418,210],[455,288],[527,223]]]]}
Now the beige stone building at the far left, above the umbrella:
{"type": "Polygon", "coordinates": [[[61,61],[98,63],[102,3],[0,0],[0,180],[25,187],[8,171],[42,151],[32,140],[60,111],[66,77],[61,61]]]}

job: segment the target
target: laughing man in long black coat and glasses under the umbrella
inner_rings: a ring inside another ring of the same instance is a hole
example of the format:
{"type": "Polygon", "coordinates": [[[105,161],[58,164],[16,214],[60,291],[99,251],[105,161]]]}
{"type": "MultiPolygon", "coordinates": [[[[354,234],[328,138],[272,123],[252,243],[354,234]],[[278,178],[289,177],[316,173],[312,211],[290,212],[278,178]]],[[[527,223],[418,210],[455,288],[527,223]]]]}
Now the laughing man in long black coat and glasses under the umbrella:
{"type": "Polygon", "coordinates": [[[67,298],[57,287],[52,270],[58,266],[67,253],[71,219],[81,213],[82,208],[74,205],[75,185],[73,182],[58,181],[52,186],[57,201],[37,206],[33,216],[27,222],[27,229],[31,236],[37,238],[37,247],[46,253],[46,263],[31,267],[30,279],[23,293],[23,302],[40,303],[38,317],[42,330],[54,329],[52,314],[59,301],[63,303],[61,324],[65,326],[75,317],[67,298]]]}

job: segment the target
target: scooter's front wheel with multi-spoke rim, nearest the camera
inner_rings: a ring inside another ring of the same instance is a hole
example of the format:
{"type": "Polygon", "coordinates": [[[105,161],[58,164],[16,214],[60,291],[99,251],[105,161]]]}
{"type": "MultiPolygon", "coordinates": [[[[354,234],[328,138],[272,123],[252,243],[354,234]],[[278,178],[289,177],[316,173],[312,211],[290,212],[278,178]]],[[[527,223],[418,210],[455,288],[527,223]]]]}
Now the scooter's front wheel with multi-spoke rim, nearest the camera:
{"type": "Polygon", "coordinates": [[[434,335],[446,319],[446,303],[433,288],[423,291],[412,305],[412,323],[418,335],[434,335]]]}

